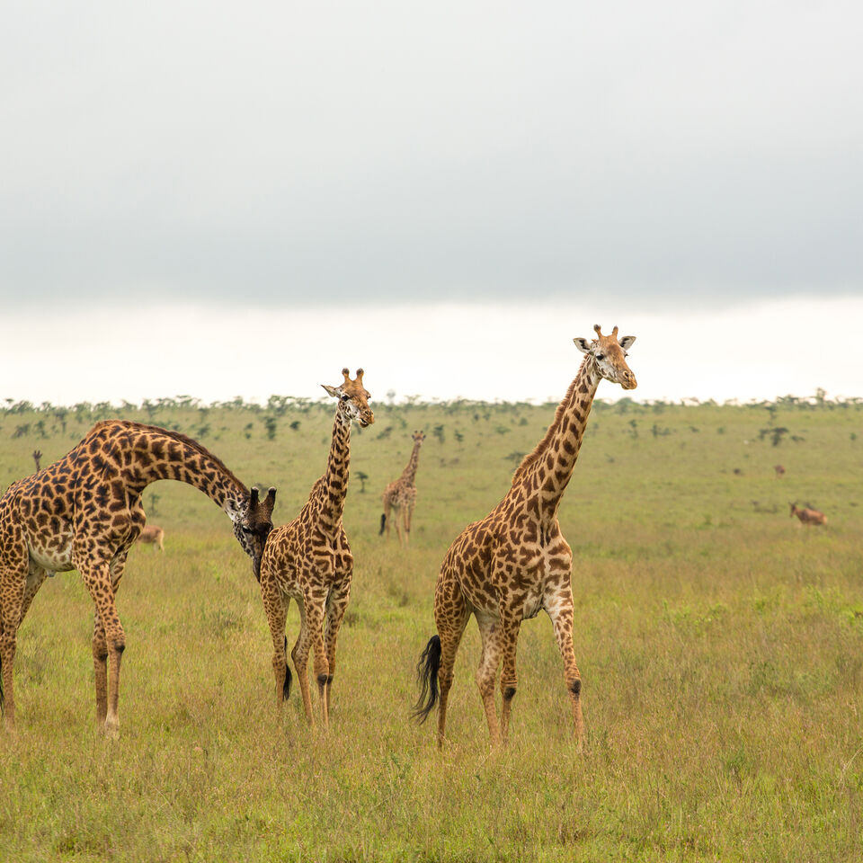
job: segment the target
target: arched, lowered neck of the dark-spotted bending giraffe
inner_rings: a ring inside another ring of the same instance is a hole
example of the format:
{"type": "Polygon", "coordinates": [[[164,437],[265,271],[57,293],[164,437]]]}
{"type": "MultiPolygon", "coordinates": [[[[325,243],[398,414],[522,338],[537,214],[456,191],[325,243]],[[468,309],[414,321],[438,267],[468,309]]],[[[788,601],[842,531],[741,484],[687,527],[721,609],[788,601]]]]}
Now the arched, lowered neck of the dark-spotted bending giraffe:
{"type": "Polygon", "coordinates": [[[243,516],[249,490],[196,440],[138,423],[128,423],[120,433],[128,435],[118,455],[129,492],[141,494],[156,480],[174,479],[206,494],[232,521],[243,516]]]}

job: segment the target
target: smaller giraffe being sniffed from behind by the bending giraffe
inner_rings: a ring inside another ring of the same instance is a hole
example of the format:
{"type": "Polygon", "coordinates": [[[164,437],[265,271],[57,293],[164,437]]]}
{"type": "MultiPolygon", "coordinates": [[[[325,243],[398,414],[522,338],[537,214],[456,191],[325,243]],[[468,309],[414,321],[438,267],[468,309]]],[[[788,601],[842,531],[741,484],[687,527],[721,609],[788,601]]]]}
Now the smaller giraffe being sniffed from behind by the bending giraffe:
{"type": "Polygon", "coordinates": [[[342,524],[351,460],[351,422],[365,428],[375,422],[362,369],[351,380],[342,369],[343,384],[325,388],[337,398],[333,440],[326,472],[312,486],[308,502],[296,519],[272,531],[261,561],[261,596],[272,636],[272,670],[278,705],[290,692],[288,637],[285,622],[291,600],[299,606],[300,628],[290,656],[297,669],[303,707],[314,725],[308,690],[308,654],[314,652],[321,697],[321,721],[329,723],[330,689],[335,673],[335,644],[351,597],[353,556],[342,524]]]}

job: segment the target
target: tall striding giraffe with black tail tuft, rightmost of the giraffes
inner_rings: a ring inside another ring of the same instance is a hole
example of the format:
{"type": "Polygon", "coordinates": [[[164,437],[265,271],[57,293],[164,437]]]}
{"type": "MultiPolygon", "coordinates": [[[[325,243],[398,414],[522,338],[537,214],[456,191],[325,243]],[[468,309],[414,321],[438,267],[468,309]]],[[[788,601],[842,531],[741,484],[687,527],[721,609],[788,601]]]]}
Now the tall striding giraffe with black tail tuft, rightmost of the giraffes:
{"type": "Polygon", "coordinates": [[[449,547],[434,592],[438,636],[426,645],[417,672],[422,690],[414,716],[424,721],[438,700],[438,745],[443,745],[447,698],[461,636],[473,614],[483,642],[476,683],[493,745],[506,743],[512,698],[517,686],[516,642],[521,621],[540,609],[551,618],[564,661],[564,681],[572,705],[579,748],[583,736],[582,679],[573,649],[572,549],[557,522],[557,509],[575,467],[593,396],[601,378],[636,388],[626,356],[635,338],[618,341],[618,328],[592,342],[574,339],[586,354],[578,375],[557,406],[546,436],[521,462],[512,488],[482,521],[470,524],[449,547]],[[494,681],[503,658],[503,708],[498,725],[494,681]]]}

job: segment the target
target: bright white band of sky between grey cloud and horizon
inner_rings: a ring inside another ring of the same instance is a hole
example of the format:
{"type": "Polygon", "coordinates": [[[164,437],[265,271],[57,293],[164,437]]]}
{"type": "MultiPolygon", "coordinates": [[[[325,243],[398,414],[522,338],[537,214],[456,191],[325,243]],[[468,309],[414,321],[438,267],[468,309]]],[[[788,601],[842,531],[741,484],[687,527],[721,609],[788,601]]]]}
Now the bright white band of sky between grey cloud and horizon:
{"type": "Polygon", "coordinates": [[[651,311],[628,298],[500,307],[443,304],[390,308],[153,307],[58,310],[38,324],[5,316],[0,397],[36,404],[140,403],[190,395],[265,402],[324,395],[341,369],[362,366],[374,400],[404,396],[559,400],[592,325],[635,335],[629,364],[638,388],[604,382],[598,397],[724,401],[863,396],[863,298],[757,300],[705,314],[651,311]],[[98,337],[68,340],[87,331],[98,337]],[[13,371],[14,369],[14,371],[13,371]]]}

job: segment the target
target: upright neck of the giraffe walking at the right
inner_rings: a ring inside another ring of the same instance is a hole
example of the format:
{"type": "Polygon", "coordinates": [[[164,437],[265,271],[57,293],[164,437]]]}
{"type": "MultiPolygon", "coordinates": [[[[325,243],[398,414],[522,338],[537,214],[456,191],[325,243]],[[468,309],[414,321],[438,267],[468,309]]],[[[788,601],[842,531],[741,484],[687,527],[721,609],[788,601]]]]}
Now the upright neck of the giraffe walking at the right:
{"type": "Polygon", "coordinates": [[[600,374],[592,357],[585,357],[574,381],[555,413],[554,422],[537,448],[521,463],[512,481],[513,490],[527,490],[529,501],[544,524],[557,518],[557,508],[581,449],[593,396],[600,374]]]}

